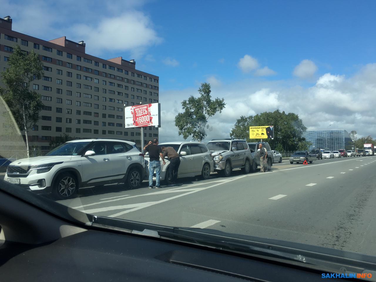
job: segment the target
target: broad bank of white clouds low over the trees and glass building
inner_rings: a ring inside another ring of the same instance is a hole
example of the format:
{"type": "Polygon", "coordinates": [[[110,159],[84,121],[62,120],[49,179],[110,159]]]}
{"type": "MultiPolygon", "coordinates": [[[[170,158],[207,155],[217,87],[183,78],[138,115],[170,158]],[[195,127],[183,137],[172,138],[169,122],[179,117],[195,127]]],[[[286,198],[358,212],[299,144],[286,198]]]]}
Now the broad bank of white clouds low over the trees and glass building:
{"type": "MultiPolygon", "coordinates": [[[[229,137],[236,119],[241,115],[255,115],[264,111],[294,112],[309,130],[356,130],[359,136],[376,137],[376,117],[369,101],[376,92],[376,64],[368,64],[352,77],[324,74],[315,85],[303,87],[294,81],[264,81],[247,79],[212,89],[212,98],[224,98],[226,108],[209,118],[213,127],[206,140],[229,137]],[[371,79],[371,78],[374,79],[371,79]]],[[[190,95],[197,97],[197,88],[161,91],[161,141],[182,140],[177,135],[174,117],[181,112],[181,102],[190,95]]],[[[189,139],[189,138],[188,138],[189,139]]]]}

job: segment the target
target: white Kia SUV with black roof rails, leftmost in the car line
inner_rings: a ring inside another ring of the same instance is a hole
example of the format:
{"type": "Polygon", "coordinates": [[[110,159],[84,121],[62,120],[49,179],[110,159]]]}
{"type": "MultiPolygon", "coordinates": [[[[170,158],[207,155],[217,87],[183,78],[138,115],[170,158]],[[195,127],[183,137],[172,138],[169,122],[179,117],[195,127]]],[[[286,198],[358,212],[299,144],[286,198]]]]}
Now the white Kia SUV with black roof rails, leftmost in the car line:
{"type": "Polygon", "coordinates": [[[68,199],[82,187],[126,183],[135,188],[144,173],[144,155],[134,142],[81,139],[68,141],[45,156],[12,162],[4,180],[38,194],[51,192],[58,199],[68,199]]]}

